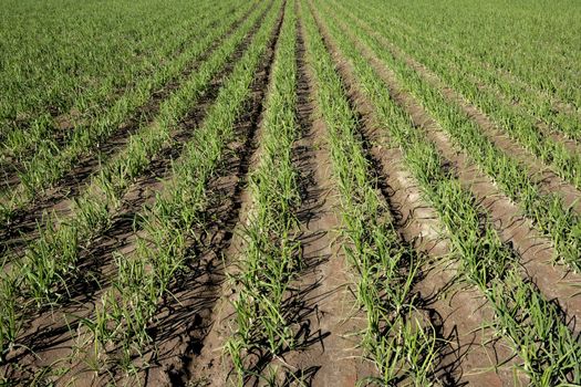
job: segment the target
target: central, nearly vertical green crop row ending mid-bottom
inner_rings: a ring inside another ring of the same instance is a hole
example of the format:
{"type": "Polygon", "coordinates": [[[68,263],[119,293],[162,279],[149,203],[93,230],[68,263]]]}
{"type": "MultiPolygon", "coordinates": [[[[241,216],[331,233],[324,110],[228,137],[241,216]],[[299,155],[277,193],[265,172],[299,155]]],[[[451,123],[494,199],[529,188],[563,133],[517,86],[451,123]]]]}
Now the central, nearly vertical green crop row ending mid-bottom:
{"type": "Polygon", "coordinates": [[[259,160],[249,177],[251,199],[243,251],[232,274],[236,331],[225,345],[238,384],[253,374],[252,356],[264,346],[269,357],[292,349],[294,332],[284,307],[290,281],[301,268],[297,209],[301,203],[292,144],[299,134],[297,108],[297,17],[287,1],[266,97],[259,160]]]}

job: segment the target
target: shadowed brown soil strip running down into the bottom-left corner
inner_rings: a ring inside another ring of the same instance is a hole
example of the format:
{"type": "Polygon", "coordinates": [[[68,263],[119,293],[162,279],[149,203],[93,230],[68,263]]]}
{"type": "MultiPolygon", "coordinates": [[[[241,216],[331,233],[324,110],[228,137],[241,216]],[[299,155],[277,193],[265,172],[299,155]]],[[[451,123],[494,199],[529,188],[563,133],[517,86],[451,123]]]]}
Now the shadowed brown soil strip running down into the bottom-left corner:
{"type": "MultiPolygon", "coordinates": [[[[260,20],[270,8],[264,11],[260,20]]],[[[174,146],[165,148],[142,177],[132,185],[123,198],[123,206],[113,217],[111,227],[83,252],[79,270],[75,272],[79,275],[71,279],[68,284],[68,300],[55,308],[41,310],[30,316],[19,339],[24,347],[12,354],[6,365],[0,366],[0,375],[11,379],[25,380],[29,376],[32,378],[35,372],[46,364],[62,359],[74,346],[74,337],[71,333],[79,324],[79,318],[91,315],[96,301],[110,286],[110,279],[115,275],[116,268],[112,254],[115,251],[126,254],[134,250],[134,243],[141,233],[139,222],[135,222],[136,217],[143,211],[144,206],[154,202],[157,192],[162,191],[170,179],[173,160],[179,157],[183,147],[191,138],[193,129],[203,123],[207,109],[218,96],[221,84],[231,73],[237,60],[242,56],[259,25],[260,21],[237,48],[232,60],[212,79],[204,96],[183,121],[174,135],[174,146]],[[11,367],[15,364],[19,367],[11,367]],[[22,365],[27,365],[27,369],[21,373],[18,368],[22,365]]],[[[251,116],[252,111],[248,114],[251,116]]],[[[243,122],[238,122],[240,128],[243,125],[243,122]]]]}

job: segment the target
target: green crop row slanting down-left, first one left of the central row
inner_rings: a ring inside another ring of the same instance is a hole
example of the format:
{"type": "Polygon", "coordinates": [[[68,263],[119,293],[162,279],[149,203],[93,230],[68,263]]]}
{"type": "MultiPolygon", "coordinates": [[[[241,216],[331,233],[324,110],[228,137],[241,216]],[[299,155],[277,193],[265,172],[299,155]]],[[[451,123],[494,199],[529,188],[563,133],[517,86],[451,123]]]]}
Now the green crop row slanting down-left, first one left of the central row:
{"type": "Polygon", "coordinates": [[[147,326],[155,317],[159,300],[168,294],[176,275],[195,263],[193,244],[209,219],[208,184],[225,161],[228,145],[236,138],[235,122],[250,96],[255,72],[272,39],[280,3],[274,3],[252,43],[220,88],[204,124],[175,163],[172,181],[143,215],[144,236],[134,254],[117,254],[118,273],[114,286],[103,296],[89,328],[93,364],[102,369],[106,348],[121,347],[118,364],[131,370],[132,356],[142,354],[151,342],[147,326]]]}

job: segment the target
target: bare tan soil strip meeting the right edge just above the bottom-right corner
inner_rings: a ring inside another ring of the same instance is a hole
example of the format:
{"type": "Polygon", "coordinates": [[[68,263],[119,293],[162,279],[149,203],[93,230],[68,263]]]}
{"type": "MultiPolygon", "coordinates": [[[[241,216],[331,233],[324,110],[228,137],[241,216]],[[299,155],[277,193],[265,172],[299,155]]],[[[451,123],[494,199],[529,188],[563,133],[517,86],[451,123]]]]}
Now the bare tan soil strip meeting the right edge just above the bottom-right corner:
{"type": "Polygon", "coordinates": [[[581,295],[574,284],[581,281],[581,275],[552,264],[557,253],[551,241],[540,234],[528,218],[520,215],[517,205],[468,160],[465,151],[459,151],[453,146],[449,136],[414,97],[402,91],[395,74],[365,46],[360,44],[360,49],[383,79],[394,100],[411,114],[418,127],[424,128],[428,139],[450,163],[463,188],[469,190],[487,210],[502,242],[510,244],[520,257],[523,275],[528,276],[548,300],[561,305],[568,315],[570,328],[579,332],[581,328],[575,326],[575,321],[581,317],[581,295]]]}

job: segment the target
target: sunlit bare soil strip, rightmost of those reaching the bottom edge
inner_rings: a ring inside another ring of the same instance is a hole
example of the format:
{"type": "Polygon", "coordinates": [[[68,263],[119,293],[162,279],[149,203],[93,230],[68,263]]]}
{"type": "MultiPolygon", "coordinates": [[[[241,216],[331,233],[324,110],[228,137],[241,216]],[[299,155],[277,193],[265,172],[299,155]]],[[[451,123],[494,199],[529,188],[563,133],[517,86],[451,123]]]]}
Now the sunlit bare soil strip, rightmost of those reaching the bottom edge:
{"type": "Polygon", "coordinates": [[[438,338],[447,343],[439,348],[442,357],[435,376],[444,385],[504,386],[512,383],[515,376],[509,367],[496,368],[498,364],[515,365],[517,359],[485,324],[494,317],[492,308],[477,289],[457,283],[458,263],[448,259],[449,242],[444,226],[406,170],[401,149],[391,145],[386,129],[377,124],[372,105],[357,86],[352,65],[336,50],[317,14],[315,20],[365,122],[362,135],[370,144],[380,179],[385,181],[384,196],[397,215],[398,231],[407,243],[428,255],[421,266],[414,292],[438,338]]]}

